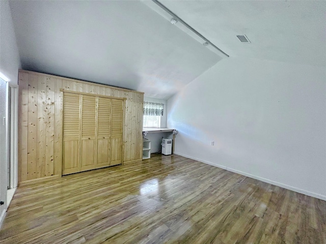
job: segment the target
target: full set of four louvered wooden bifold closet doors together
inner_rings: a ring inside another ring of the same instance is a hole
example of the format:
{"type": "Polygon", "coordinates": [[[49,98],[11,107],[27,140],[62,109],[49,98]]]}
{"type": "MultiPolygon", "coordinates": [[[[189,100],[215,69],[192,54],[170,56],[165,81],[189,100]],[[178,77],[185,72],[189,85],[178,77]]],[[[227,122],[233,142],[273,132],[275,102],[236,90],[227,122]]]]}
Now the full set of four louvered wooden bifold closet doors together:
{"type": "Polygon", "coordinates": [[[63,172],[122,164],[124,101],[64,93],[63,172]]]}

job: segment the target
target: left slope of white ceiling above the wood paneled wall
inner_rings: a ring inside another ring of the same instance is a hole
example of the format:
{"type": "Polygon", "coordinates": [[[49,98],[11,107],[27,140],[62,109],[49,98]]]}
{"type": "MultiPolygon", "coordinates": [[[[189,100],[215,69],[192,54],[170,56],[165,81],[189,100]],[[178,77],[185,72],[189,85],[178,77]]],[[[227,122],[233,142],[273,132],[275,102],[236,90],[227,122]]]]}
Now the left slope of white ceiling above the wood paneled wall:
{"type": "Polygon", "coordinates": [[[10,6],[23,69],[167,99],[221,60],[139,1],[10,6]]]}

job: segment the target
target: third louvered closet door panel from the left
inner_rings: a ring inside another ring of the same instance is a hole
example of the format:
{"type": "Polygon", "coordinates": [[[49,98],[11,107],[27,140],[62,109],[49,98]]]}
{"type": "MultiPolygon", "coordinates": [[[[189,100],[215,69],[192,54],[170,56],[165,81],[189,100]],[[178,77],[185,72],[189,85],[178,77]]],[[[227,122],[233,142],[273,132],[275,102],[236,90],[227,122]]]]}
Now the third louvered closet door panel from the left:
{"type": "Polygon", "coordinates": [[[98,97],[97,168],[110,166],[111,99],[98,97]]]}

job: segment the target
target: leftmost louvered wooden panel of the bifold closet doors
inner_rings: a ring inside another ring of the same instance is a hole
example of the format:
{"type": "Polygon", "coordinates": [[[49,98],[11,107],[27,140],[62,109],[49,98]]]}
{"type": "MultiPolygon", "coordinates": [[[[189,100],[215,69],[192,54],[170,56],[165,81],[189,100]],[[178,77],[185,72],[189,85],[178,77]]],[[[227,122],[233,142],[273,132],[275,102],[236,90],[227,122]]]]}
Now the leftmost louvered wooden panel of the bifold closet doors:
{"type": "Polygon", "coordinates": [[[79,94],[64,93],[62,174],[79,172],[79,94]]]}

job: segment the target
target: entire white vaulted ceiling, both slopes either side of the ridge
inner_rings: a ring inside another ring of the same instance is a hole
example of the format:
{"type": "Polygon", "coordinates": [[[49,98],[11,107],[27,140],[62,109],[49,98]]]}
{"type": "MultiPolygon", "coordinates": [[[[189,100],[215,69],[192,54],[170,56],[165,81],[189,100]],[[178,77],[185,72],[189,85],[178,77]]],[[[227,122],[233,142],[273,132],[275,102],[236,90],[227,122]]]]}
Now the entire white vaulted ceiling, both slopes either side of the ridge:
{"type": "MultiPolygon", "coordinates": [[[[324,1],[159,1],[230,56],[326,65],[324,1]],[[246,34],[251,44],[236,35],[246,34]]],[[[168,99],[223,56],[147,1],[10,1],[22,68],[168,99]]]]}

